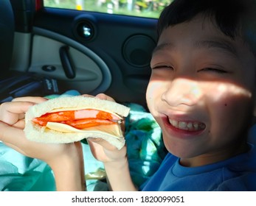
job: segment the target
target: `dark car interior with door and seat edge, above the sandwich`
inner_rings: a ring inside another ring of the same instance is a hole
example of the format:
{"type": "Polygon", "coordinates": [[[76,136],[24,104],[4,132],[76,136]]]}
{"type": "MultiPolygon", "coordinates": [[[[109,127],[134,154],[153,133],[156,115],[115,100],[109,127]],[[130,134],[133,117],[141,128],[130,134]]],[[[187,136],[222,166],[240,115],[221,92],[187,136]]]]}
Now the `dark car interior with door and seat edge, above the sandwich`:
{"type": "Polygon", "coordinates": [[[0,10],[1,102],[72,89],[145,106],[156,18],[61,10],[43,0],[2,1],[0,10]]]}

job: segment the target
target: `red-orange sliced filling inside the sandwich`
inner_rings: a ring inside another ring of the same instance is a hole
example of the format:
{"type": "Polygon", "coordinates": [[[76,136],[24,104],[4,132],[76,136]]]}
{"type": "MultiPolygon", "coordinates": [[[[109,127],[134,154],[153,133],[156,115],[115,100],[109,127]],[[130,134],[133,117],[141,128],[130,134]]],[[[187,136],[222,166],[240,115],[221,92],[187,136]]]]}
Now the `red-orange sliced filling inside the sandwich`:
{"type": "Polygon", "coordinates": [[[97,125],[117,124],[120,117],[100,110],[69,110],[56,113],[46,113],[32,121],[41,126],[46,126],[48,121],[68,124],[77,129],[94,127],[97,125]]]}

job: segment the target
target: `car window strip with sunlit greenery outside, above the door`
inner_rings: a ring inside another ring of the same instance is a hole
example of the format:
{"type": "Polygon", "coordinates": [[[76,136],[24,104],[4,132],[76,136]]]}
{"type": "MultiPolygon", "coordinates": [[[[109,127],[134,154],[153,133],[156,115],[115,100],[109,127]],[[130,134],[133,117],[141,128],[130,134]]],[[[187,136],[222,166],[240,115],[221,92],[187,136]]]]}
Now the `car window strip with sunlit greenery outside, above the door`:
{"type": "Polygon", "coordinates": [[[45,7],[158,18],[170,0],[44,0],[45,7]]]}

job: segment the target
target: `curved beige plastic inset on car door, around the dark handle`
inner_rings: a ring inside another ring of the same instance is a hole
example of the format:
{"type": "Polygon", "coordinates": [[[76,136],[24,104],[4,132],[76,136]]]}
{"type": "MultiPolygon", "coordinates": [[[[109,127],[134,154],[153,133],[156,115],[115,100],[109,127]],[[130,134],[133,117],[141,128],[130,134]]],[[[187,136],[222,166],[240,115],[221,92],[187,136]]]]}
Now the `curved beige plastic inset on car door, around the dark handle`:
{"type": "Polygon", "coordinates": [[[103,60],[86,46],[75,40],[35,27],[32,37],[32,57],[29,71],[45,74],[55,79],[61,79],[72,85],[83,85],[83,92],[100,93],[108,89],[111,84],[111,73],[103,60]],[[76,77],[66,77],[61,62],[59,49],[69,46],[69,54],[75,65],[76,77]],[[44,71],[44,65],[55,66],[55,71],[44,71]]]}

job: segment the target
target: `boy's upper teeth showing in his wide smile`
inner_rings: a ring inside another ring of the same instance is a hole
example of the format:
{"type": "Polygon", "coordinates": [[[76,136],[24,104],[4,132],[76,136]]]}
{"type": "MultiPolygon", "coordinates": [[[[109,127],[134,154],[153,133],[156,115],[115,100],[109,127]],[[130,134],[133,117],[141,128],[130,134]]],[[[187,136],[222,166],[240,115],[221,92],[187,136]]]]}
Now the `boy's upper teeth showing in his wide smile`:
{"type": "Polygon", "coordinates": [[[173,119],[169,119],[169,122],[173,127],[189,131],[197,131],[205,128],[205,124],[199,122],[175,121],[173,119]]]}

